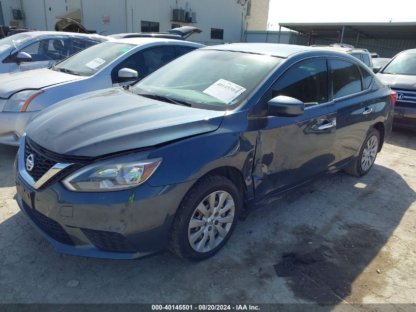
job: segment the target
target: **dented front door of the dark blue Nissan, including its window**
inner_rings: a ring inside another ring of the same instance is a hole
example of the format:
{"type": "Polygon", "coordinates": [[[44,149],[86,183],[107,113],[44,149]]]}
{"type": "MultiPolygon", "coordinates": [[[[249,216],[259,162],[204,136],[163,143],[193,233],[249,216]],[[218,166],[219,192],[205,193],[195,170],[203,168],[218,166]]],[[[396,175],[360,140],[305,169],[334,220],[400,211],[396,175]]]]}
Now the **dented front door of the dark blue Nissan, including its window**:
{"type": "Polygon", "coordinates": [[[305,103],[298,117],[258,119],[253,168],[256,203],[328,170],[334,161],[336,107],[330,101],[326,58],[312,58],[288,69],[257,105],[276,96],[305,103]]]}

